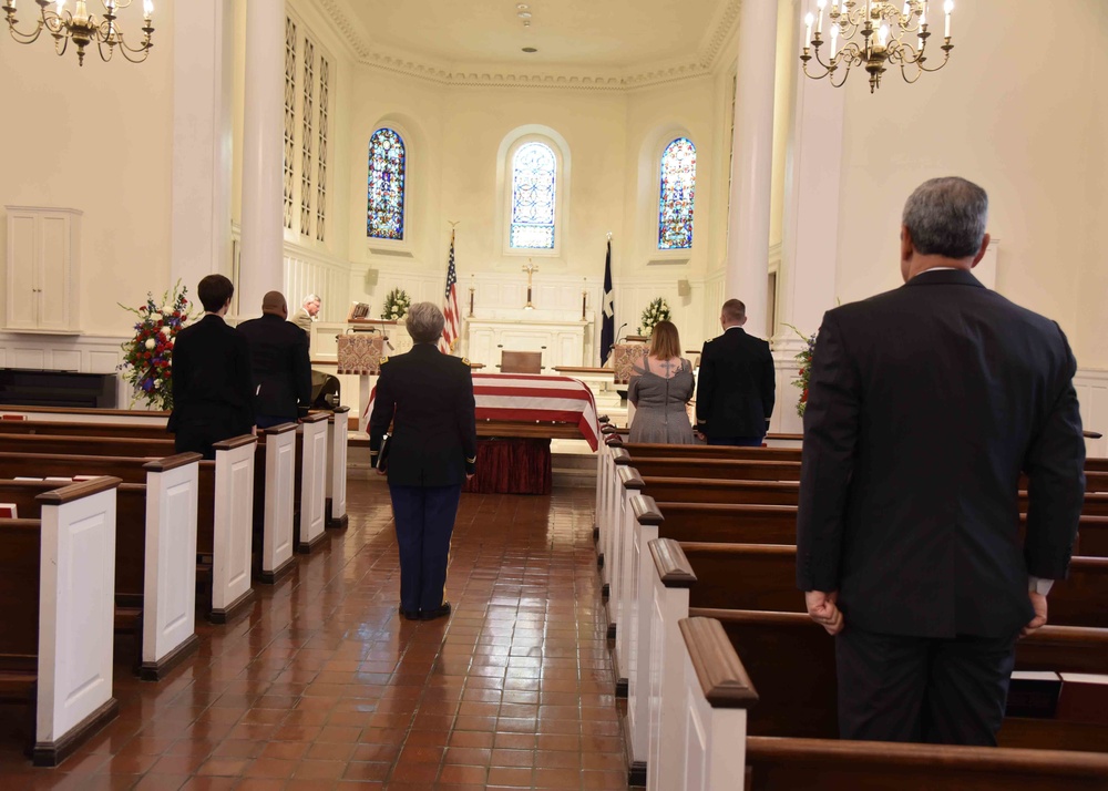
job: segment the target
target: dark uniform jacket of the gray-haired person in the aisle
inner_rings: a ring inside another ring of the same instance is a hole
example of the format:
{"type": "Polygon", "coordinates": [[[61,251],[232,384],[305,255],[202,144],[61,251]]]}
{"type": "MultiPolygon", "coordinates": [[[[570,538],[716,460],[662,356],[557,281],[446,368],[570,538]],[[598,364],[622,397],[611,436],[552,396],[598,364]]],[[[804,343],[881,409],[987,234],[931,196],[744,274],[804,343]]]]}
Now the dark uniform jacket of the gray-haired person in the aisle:
{"type": "Polygon", "coordinates": [[[468,362],[417,343],[381,363],[369,448],[377,453],[392,423],[389,484],[452,486],[465,482],[478,455],[473,376],[468,362]]]}

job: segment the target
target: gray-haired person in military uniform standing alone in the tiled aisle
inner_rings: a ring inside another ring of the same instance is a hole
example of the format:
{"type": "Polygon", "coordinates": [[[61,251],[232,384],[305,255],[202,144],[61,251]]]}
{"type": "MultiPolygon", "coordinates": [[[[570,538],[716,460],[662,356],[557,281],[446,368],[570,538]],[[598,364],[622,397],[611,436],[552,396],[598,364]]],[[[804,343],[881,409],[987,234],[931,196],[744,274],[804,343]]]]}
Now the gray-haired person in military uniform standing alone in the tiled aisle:
{"type": "Polygon", "coordinates": [[[476,415],[469,362],[437,348],[442,311],[419,302],[407,319],[416,345],[381,362],[369,449],[376,459],[391,423],[387,461],[400,547],[400,614],[430,620],[450,615],[443,597],[450,534],[462,484],[475,472],[476,415]]]}

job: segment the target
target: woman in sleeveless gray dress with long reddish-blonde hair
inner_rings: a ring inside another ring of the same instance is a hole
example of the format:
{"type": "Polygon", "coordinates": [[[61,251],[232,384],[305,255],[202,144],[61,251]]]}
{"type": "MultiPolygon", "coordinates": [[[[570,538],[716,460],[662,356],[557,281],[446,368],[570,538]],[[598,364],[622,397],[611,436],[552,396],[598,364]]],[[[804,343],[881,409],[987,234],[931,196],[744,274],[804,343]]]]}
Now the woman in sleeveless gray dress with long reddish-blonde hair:
{"type": "Polygon", "coordinates": [[[630,442],[693,444],[693,424],[686,405],[693,398],[693,364],[681,358],[677,327],[670,321],[654,326],[650,348],[632,369],[627,400],[635,404],[630,442]]]}

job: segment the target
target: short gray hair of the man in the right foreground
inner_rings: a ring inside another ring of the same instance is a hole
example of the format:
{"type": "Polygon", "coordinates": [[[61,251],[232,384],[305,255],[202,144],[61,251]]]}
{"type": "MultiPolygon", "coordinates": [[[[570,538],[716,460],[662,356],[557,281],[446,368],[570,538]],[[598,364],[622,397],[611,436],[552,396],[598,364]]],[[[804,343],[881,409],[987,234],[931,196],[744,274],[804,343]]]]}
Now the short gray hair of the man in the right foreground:
{"type": "Polygon", "coordinates": [[[921,255],[968,258],[981,249],[988,220],[988,195],[957,176],[932,178],[904,204],[903,223],[921,255]]]}

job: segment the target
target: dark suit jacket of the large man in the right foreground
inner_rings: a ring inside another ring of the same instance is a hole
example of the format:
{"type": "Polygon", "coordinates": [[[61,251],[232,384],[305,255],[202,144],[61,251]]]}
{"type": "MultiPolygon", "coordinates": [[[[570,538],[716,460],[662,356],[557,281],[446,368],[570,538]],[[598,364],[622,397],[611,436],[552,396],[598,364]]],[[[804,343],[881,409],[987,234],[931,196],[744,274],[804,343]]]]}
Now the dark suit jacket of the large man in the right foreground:
{"type": "Polygon", "coordinates": [[[1058,326],[964,270],[829,311],[804,413],[797,584],[886,635],[1007,637],[1060,579],[1085,441],[1058,326]],[[1019,475],[1027,474],[1026,538],[1019,475]]]}

